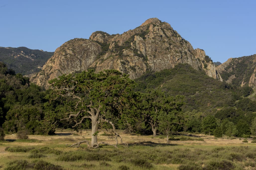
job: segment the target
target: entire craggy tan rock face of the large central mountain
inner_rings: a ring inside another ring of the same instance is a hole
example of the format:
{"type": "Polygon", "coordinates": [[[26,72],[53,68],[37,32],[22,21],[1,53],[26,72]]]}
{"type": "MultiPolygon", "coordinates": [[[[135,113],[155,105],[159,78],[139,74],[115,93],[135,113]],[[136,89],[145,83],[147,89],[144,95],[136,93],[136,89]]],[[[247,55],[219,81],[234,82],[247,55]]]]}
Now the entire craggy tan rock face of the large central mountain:
{"type": "Polygon", "coordinates": [[[59,75],[88,68],[96,72],[116,69],[136,79],[146,71],[160,71],[178,63],[188,63],[222,81],[214,63],[207,57],[204,50],[193,49],[170,24],[151,18],[121,35],[97,31],[89,40],[76,38],[64,43],[31,80],[48,86],[48,80],[59,75]]]}

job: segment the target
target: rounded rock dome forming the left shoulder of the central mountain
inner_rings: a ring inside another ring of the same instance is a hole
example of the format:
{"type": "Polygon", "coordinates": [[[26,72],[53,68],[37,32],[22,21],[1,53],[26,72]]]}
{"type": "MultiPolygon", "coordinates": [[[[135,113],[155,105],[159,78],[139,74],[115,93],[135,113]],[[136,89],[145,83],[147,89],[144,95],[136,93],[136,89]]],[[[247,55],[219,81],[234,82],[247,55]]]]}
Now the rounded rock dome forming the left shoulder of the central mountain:
{"type": "Polygon", "coordinates": [[[87,70],[101,51],[93,41],[75,38],[58,47],[42,70],[31,77],[40,86],[49,86],[48,81],[62,74],[87,70]]]}

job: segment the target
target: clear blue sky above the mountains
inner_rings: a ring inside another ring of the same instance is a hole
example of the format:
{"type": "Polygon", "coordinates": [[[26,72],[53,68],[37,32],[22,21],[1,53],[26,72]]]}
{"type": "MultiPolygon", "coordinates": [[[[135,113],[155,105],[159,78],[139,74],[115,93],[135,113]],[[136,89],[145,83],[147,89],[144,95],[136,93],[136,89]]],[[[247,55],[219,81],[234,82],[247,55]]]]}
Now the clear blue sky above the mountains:
{"type": "Polygon", "coordinates": [[[155,17],[214,62],[256,54],[255,0],[0,0],[0,46],[52,52],[73,38],[122,34],[155,17]]]}

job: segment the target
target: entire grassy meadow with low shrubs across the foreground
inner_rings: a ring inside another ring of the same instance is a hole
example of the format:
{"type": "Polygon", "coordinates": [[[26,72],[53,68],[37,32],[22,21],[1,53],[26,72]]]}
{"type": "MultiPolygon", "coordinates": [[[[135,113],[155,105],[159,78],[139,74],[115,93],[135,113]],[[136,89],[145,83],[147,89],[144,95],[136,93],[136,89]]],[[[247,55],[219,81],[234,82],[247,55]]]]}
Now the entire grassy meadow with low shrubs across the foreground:
{"type": "MultiPolygon", "coordinates": [[[[113,144],[114,138],[106,133],[101,131],[98,141],[113,144]]],[[[29,135],[28,139],[6,135],[0,142],[0,169],[256,169],[252,139],[186,134],[171,136],[166,143],[165,136],[120,134],[129,147],[89,149],[84,143],[68,147],[90,139],[90,131],[80,136],[58,129],[56,135],[29,135]]]]}

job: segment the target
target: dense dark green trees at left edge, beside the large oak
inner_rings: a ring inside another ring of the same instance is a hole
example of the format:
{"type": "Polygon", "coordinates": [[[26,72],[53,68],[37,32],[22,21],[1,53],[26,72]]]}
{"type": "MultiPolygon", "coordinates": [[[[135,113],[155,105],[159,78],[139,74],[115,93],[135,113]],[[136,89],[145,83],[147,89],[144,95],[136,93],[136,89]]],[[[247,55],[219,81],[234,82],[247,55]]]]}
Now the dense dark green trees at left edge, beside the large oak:
{"type": "Polygon", "coordinates": [[[40,134],[38,121],[44,117],[44,89],[31,84],[27,77],[10,72],[1,62],[0,66],[0,125],[7,132],[28,129],[40,134]]]}

